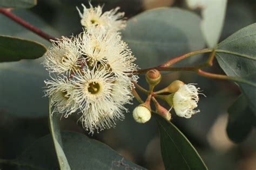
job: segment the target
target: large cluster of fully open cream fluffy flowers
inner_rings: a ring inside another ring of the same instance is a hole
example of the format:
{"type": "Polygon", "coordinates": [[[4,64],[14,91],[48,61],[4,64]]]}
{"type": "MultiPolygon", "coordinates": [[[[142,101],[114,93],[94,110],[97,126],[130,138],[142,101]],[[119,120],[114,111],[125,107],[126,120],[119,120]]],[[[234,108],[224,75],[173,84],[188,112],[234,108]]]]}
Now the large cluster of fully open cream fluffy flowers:
{"type": "Polygon", "coordinates": [[[84,31],[52,41],[46,53],[44,66],[51,80],[45,81],[45,93],[51,97],[52,114],[82,113],[80,121],[93,133],[124,118],[124,104],[132,98],[131,81],[138,77],[132,74],[137,70],[135,58],[117,32],[125,27],[124,13],[83,7],[79,15],[84,31]]]}

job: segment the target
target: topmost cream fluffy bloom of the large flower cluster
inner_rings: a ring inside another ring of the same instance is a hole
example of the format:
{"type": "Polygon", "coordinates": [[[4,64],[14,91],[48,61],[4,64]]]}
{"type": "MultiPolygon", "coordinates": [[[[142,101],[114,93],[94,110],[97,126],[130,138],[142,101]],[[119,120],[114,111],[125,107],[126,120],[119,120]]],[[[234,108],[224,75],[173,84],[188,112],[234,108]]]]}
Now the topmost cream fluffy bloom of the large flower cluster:
{"type": "Polygon", "coordinates": [[[91,27],[106,27],[112,31],[119,31],[124,29],[126,26],[126,20],[123,19],[124,12],[117,12],[119,7],[116,9],[112,9],[110,11],[102,12],[102,7],[97,6],[93,8],[90,3],[90,8],[86,8],[84,4],[82,4],[84,11],[83,13],[77,8],[79,12],[79,16],[81,19],[81,24],[89,29],[91,27]]]}

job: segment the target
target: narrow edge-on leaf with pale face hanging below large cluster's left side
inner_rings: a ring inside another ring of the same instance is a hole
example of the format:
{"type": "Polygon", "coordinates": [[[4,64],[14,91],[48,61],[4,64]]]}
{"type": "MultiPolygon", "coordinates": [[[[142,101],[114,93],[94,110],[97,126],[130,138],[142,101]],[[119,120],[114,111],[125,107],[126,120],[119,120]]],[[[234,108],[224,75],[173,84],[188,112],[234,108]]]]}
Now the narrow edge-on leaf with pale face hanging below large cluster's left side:
{"type": "Polygon", "coordinates": [[[50,125],[50,132],[53,140],[53,144],[55,147],[55,151],[57,154],[59,168],[60,170],[69,170],[69,162],[66,159],[65,153],[63,151],[62,146],[62,137],[60,135],[60,129],[58,124],[58,115],[52,115],[51,113],[51,98],[49,99],[49,125],[50,125]]]}

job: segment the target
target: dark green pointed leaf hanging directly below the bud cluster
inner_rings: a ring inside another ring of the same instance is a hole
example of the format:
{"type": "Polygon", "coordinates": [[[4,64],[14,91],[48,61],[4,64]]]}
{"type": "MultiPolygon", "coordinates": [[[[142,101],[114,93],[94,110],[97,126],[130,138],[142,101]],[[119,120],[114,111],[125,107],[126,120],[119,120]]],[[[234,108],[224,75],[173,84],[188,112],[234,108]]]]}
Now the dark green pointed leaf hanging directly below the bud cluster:
{"type": "Polygon", "coordinates": [[[165,169],[207,169],[190,141],[171,122],[154,114],[157,120],[165,169]]]}

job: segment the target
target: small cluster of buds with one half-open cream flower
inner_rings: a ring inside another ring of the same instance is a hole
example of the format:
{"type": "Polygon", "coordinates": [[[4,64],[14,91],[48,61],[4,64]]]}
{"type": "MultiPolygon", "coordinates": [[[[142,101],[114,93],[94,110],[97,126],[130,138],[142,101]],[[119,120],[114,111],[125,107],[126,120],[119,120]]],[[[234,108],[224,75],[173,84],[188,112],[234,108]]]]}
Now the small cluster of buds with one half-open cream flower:
{"type": "Polygon", "coordinates": [[[194,108],[197,108],[197,103],[199,101],[198,95],[200,93],[198,93],[198,91],[200,88],[197,88],[193,84],[185,84],[180,80],[176,80],[164,89],[154,92],[154,87],[161,81],[161,74],[157,69],[151,69],[146,73],[146,81],[149,83],[147,99],[133,110],[133,118],[136,122],[145,123],[150,120],[151,100],[156,107],[156,113],[163,116],[167,121],[171,120],[170,110],[172,108],[175,110],[177,116],[185,118],[190,118],[192,115],[200,112],[200,110],[194,110],[194,108]],[[165,109],[159,104],[156,98],[160,98],[167,102],[171,109],[165,109]]]}

